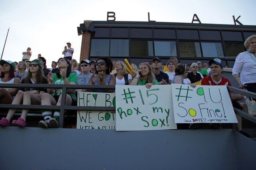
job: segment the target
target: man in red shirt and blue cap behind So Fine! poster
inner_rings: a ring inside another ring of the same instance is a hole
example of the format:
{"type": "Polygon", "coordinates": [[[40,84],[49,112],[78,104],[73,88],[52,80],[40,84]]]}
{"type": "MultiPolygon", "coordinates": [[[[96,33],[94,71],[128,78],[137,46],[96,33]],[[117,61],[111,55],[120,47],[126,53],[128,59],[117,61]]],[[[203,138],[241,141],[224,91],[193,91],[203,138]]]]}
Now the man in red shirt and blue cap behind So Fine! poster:
{"type": "MultiPolygon", "coordinates": [[[[209,65],[210,65],[212,74],[202,79],[202,82],[201,82],[202,85],[231,86],[230,81],[222,76],[224,64],[219,58],[214,58],[213,60],[210,60],[209,65]]],[[[233,92],[231,92],[231,99],[233,101],[232,104],[235,108],[240,109],[241,106],[239,105],[239,103],[235,101],[242,100],[243,98],[244,97],[241,94],[234,95],[233,92]]],[[[251,137],[249,134],[242,131],[242,117],[237,114],[235,114],[235,116],[237,117],[237,121],[238,121],[238,123],[236,124],[237,131],[244,136],[251,137]]],[[[219,129],[219,128],[221,128],[220,123],[210,124],[210,129],[219,129]]]]}

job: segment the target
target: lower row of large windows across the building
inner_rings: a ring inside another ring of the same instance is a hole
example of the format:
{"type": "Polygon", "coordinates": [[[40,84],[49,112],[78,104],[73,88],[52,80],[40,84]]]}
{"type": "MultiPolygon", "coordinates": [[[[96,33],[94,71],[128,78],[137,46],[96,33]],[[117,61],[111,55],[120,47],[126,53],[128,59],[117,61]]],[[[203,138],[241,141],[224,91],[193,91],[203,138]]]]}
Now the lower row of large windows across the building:
{"type": "MultiPolygon", "coordinates": [[[[224,42],[227,57],[235,57],[245,50],[243,43],[224,42]]],[[[129,39],[92,39],[91,55],[178,56],[176,41],[148,41],[129,39]],[[130,49],[129,49],[130,43],[130,49]]],[[[179,42],[180,57],[224,57],[222,42],[179,42]]]]}

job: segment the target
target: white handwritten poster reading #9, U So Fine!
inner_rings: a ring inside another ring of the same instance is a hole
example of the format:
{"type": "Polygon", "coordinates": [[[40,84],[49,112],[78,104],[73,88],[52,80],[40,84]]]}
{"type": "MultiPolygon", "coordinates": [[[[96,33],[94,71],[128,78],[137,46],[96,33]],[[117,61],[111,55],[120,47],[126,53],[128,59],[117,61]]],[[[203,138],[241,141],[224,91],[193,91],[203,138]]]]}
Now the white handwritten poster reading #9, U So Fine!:
{"type": "Polygon", "coordinates": [[[226,86],[172,84],[175,123],[237,123],[226,86]]]}

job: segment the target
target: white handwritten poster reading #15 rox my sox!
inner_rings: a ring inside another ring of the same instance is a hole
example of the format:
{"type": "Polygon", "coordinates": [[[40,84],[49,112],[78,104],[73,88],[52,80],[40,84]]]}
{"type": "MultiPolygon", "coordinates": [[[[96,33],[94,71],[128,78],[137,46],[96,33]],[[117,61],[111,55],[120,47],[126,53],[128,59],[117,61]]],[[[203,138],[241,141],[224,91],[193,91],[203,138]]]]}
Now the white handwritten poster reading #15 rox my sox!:
{"type": "Polygon", "coordinates": [[[116,113],[117,131],[177,129],[171,85],[116,85],[116,113]]]}

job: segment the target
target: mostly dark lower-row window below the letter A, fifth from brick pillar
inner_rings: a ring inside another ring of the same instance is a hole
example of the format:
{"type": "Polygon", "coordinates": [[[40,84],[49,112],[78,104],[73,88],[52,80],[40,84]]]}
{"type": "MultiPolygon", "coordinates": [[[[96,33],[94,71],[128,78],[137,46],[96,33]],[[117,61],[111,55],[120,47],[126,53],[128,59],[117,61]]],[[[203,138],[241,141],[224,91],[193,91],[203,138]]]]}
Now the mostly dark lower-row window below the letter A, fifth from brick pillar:
{"type": "Polygon", "coordinates": [[[199,42],[179,42],[180,57],[202,57],[199,42]]]}

